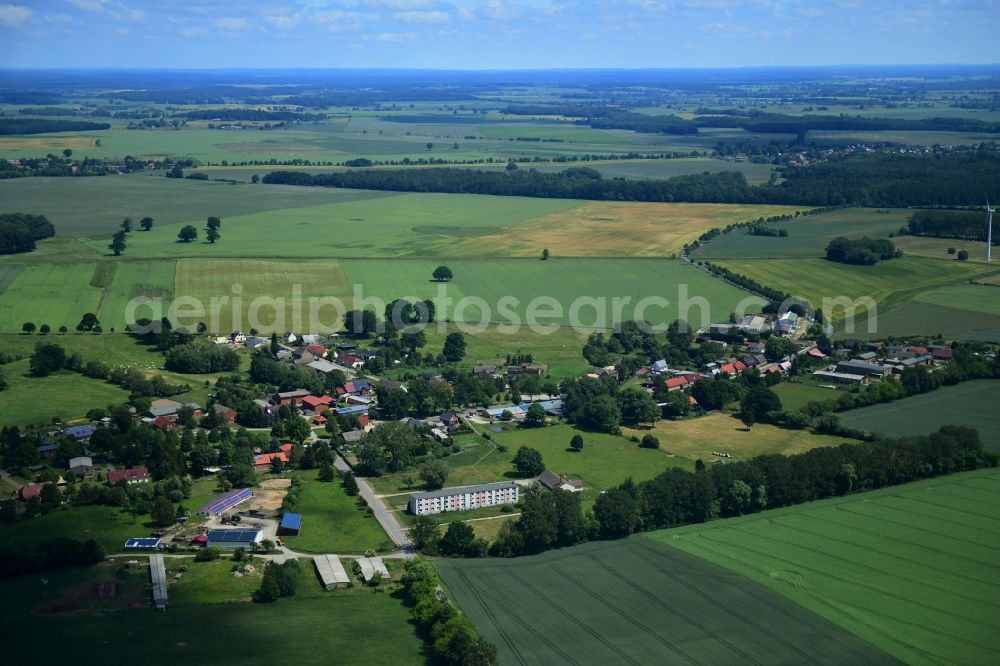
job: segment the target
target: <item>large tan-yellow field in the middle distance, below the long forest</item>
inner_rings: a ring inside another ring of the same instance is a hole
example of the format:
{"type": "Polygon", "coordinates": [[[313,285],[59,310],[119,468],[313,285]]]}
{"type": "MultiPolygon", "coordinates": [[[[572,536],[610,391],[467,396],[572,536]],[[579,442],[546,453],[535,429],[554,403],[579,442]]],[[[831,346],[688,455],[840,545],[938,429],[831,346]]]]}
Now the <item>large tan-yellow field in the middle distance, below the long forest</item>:
{"type": "MultiPolygon", "coordinates": [[[[669,161],[669,160],[665,160],[669,161]]],[[[466,240],[463,255],[669,257],[712,227],[794,213],[792,206],[590,202],[466,240]]]]}

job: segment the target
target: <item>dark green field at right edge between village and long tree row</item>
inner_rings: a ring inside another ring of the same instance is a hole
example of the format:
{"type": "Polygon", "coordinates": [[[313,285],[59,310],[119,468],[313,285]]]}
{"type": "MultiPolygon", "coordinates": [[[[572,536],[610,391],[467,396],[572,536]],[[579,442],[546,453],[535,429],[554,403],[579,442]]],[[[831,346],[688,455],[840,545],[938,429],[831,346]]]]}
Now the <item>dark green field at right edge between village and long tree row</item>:
{"type": "Polygon", "coordinates": [[[975,428],[986,448],[1000,451],[1000,381],[981,379],[943,386],[902,400],[841,413],[852,428],[899,437],[926,435],[943,425],[975,428]]]}

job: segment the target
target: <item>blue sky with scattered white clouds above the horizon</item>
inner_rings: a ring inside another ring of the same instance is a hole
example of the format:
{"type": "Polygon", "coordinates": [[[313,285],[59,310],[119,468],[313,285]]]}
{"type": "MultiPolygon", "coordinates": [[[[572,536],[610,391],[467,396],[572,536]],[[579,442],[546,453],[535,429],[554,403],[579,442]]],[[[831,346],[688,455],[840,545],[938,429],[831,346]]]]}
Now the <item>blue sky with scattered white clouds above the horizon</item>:
{"type": "Polygon", "coordinates": [[[2,67],[1000,62],[1000,0],[0,0],[2,67]]]}

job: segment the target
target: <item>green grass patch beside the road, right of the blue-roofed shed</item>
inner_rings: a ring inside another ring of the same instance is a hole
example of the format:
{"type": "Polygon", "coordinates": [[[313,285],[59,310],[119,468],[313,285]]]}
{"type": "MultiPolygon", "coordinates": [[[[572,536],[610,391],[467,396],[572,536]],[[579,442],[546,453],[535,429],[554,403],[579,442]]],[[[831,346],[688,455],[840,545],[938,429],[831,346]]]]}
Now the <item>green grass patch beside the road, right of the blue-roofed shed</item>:
{"type": "Polygon", "coordinates": [[[303,485],[295,512],[302,514],[302,531],[282,537],[289,548],[312,553],[387,550],[389,540],[381,526],[339,482],[317,481],[316,472],[302,472],[299,478],[303,485]]]}

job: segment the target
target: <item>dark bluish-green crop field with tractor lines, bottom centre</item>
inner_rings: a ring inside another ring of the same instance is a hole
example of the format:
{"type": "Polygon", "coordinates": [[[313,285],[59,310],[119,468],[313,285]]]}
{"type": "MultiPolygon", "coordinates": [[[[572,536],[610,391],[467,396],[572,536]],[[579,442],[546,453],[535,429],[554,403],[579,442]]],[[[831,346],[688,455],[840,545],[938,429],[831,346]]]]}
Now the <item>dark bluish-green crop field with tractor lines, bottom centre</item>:
{"type": "Polygon", "coordinates": [[[435,563],[500,663],[891,663],[720,566],[649,539],[435,563]]]}

